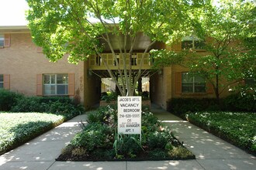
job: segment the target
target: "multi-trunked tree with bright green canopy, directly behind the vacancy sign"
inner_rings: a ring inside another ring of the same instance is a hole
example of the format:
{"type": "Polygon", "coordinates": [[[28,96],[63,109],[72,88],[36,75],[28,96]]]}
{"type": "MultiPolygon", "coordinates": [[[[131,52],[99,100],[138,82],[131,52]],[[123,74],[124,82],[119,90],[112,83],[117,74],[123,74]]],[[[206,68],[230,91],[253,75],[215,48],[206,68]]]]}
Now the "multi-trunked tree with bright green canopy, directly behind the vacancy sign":
{"type": "Polygon", "coordinates": [[[189,14],[203,0],[26,0],[27,20],[33,41],[43,47],[50,61],[68,54],[70,63],[86,60],[92,54],[101,57],[109,76],[115,80],[122,95],[133,95],[142,74],[141,66],[150,46],[155,42],[174,42],[191,26],[189,14]],[[96,19],[97,22],[92,22],[96,19]],[[132,70],[134,45],[143,32],[150,38],[136,73],[132,70]],[[122,39],[118,37],[122,36],[122,39]],[[118,52],[111,37],[119,39],[118,52]],[[108,46],[117,64],[121,83],[106,63],[102,51],[108,46]],[[119,53],[119,64],[116,57],[119,53]],[[127,60],[129,63],[127,63],[127,60]],[[122,88],[123,87],[123,88],[122,88]],[[127,91],[127,93],[126,93],[127,91]]]}

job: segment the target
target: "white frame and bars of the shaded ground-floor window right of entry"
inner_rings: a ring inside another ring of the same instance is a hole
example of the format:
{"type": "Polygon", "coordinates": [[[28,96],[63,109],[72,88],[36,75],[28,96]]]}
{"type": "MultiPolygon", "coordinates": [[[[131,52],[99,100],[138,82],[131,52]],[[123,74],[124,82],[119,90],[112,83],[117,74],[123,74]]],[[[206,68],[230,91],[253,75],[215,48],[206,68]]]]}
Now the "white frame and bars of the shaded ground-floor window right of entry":
{"type": "Polygon", "coordinates": [[[182,72],[182,93],[206,93],[206,79],[203,82],[204,83],[204,91],[195,91],[196,83],[202,83],[202,82],[195,82],[195,76],[198,75],[198,73],[189,73],[189,72],[182,72]],[[183,76],[185,74],[192,74],[192,81],[191,82],[183,82],[183,76]],[[192,83],[192,91],[185,91],[183,88],[185,86],[185,83],[192,83]]]}

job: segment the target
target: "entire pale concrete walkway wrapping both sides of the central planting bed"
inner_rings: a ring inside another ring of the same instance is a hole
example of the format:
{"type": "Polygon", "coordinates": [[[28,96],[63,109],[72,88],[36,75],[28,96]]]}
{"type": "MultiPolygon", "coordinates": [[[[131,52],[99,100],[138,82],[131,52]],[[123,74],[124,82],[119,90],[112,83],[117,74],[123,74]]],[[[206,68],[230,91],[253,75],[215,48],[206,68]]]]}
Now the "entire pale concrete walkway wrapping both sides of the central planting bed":
{"type": "Polygon", "coordinates": [[[226,141],[175,117],[164,110],[154,108],[152,112],[164,124],[170,126],[175,136],[191,150],[195,160],[158,162],[56,162],[61,149],[81,131],[78,121],[85,121],[86,115],[74,117],[71,121],[42,134],[25,145],[0,156],[1,170],[141,170],[141,169],[256,169],[256,158],[226,141]]]}

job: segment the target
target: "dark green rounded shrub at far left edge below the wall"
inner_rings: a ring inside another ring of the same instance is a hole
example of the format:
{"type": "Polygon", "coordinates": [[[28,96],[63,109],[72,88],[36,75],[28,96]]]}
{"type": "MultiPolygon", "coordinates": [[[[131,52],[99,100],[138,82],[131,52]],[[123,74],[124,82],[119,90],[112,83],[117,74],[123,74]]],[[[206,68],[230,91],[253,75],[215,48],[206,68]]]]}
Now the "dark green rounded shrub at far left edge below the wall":
{"type": "Polygon", "coordinates": [[[9,111],[20,98],[22,98],[22,94],[0,89],[0,110],[9,111]]]}

